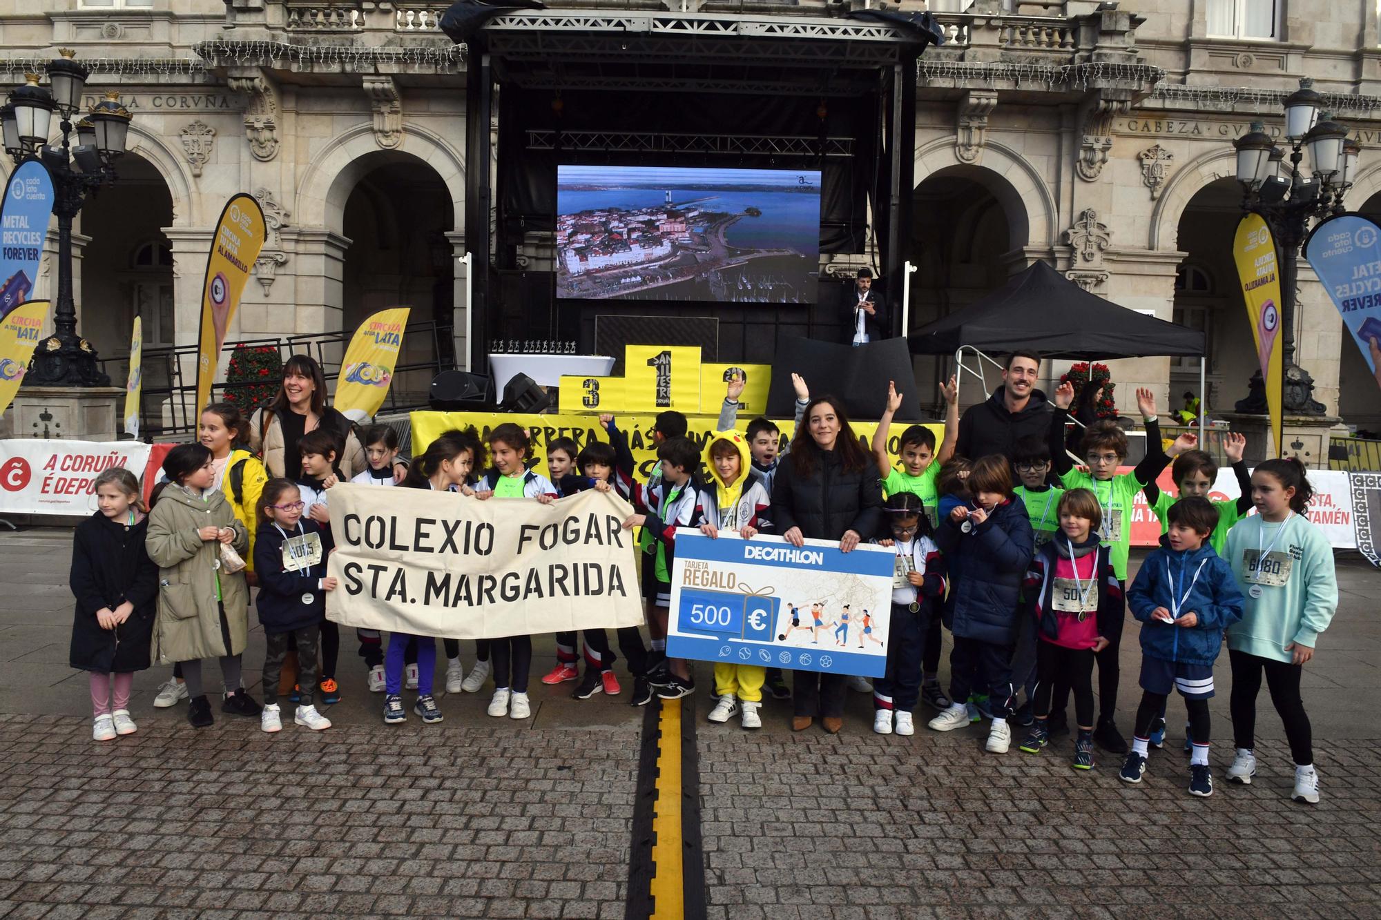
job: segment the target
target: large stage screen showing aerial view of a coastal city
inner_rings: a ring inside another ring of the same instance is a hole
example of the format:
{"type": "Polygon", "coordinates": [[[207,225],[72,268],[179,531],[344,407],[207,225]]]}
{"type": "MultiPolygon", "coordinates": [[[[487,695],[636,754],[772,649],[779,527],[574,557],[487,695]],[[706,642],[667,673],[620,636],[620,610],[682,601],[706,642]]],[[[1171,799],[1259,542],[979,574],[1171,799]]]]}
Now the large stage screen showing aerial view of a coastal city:
{"type": "Polygon", "coordinates": [[[561,166],[557,296],[811,304],[818,171],[561,166]]]}

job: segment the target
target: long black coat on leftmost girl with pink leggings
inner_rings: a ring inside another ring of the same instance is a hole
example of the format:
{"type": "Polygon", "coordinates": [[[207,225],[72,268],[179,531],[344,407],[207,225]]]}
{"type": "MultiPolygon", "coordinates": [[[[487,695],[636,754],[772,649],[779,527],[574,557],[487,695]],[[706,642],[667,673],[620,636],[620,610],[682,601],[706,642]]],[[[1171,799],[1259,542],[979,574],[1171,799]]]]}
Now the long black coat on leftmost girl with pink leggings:
{"type": "Polygon", "coordinates": [[[127,526],[99,511],[77,525],[68,579],[77,598],[69,652],[72,667],[109,674],[142,671],[149,666],[159,566],[144,550],[148,530],[148,518],[127,526]],[[134,605],[130,619],[113,630],[101,629],[95,612],[102,606],[113,611],[126,601],[134,605]]]}

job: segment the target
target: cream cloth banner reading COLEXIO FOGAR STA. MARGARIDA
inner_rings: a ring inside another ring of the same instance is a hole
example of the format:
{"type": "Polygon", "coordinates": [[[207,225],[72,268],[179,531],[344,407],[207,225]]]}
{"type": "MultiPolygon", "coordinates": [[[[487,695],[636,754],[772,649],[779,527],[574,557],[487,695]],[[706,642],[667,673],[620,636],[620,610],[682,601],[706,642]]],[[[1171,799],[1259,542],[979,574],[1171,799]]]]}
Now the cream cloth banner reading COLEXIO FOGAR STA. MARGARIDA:
{"type": "Polygon", "coordinates": [[[326,617],[342,626],[499,638],[644,622],[632,508],[615,495],[544,506],[341,483],[330,512],[326,617]]]}

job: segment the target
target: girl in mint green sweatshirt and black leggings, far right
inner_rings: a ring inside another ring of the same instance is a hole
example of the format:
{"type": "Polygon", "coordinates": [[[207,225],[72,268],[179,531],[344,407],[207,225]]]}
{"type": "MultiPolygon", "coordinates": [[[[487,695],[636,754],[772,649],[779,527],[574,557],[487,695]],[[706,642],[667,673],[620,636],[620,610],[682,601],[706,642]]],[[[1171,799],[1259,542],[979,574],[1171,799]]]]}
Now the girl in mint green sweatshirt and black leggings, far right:
{"type": "Polygon", "coordinates": [[[1246,595],[1242,620],[1228,627],[1232,662],[1232,729],[1237,756],[1229,782],[1257,772],[1257,693],[1266,677],[1271,702],[1286,727],[1295,761],[1295,801],[1319,801],[1309,717],[1300,698],[1304,664],[1338,608],[1333,547],[1305,517],[1313,488],[1294,457],[1266,460],[1251,474],[1257,514],[1228,535],[1225,554],[1246,595]]]}

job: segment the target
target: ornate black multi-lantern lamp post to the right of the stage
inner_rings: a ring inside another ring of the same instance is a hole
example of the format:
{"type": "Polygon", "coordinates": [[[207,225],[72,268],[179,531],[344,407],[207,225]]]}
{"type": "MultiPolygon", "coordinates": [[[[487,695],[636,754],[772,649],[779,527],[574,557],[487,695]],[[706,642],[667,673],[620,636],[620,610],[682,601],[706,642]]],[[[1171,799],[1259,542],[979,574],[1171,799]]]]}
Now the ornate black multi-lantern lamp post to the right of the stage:
{"type": "MultiPolygon", "coordinates": [[[[1242,210],[1259,214],[1280,247],[1282,402],[1284,414],[1290,416],[1324,413],[1324,405],[1313,398],[1313,377],[1294,362],[1300,247],[1309,235],[1311,221],[1342,213],[1342,198],[1356,177],[1362,151],[1344,126],[1327,113],[1320,119],[1323,97],[1312,84],[1313,80],[1300,80],[1300,88],[1284,101],[1288,151],[1275,146],[1261,122],[1253,122],[1251,131],[1232,144],[1237,151],[1237,181],[1243,186],[1242,210]],[[1311,177],[1300,169],[1305,153],[1311,177]]],[[[1237,402],[1237,412],[1264,414],[1268,410],[1265,381],[1257,370],[1247,398],[1237,402]]]]}

